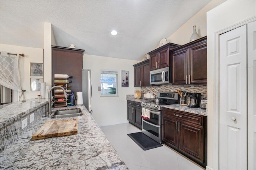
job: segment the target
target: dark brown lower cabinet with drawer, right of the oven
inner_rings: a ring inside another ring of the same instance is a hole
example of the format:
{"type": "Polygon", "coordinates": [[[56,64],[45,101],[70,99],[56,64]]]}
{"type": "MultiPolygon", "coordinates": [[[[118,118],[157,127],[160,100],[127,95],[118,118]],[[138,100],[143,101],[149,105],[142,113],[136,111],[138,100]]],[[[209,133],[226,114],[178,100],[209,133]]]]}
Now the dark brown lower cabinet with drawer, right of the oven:
{"type": "Polygon", "coordinates": [[[204,168],[207,165],[207,117],[163,108],[162,136],[169,147],[204,168]]]}

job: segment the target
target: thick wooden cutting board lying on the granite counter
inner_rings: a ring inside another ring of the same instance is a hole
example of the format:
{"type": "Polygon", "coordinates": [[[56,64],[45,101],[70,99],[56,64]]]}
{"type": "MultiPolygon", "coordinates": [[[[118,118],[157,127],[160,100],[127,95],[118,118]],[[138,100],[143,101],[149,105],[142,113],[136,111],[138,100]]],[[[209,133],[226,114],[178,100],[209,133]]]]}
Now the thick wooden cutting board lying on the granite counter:
{"type": "Polygon", "coordinates": [[[78,132],[78,119],[47,121],[32,135],[32,140],[76,135],[78,132]]]}

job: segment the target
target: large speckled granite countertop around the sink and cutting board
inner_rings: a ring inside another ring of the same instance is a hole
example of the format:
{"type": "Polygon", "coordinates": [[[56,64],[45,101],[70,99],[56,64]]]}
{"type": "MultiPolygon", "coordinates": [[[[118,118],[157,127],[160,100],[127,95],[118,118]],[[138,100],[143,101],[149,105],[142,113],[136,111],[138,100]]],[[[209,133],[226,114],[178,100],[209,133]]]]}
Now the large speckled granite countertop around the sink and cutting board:
{"type": "Polygon", "coordinates": [[[60,119],[77,118],[77,135],[32,141],[46,121],[60,120],[41,116],[0,154],[0,169],[128,169],[84,106],[58,110],[74,108],[83,115],[60,119]]]}

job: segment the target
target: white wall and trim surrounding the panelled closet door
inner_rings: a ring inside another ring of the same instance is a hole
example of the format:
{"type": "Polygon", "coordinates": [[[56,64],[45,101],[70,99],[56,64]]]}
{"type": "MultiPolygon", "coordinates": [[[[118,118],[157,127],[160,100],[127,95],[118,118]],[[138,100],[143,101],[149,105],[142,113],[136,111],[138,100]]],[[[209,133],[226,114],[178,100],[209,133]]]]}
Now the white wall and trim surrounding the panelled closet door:
{"type": "MultiPolygon", "coordinates": [[[[254,0],[228,0],[207,12],[207,77],[208,77],[208,165],[209,169],[218,169],[218,155],[214,155],[214,61],[215,61],[215,33],[226,27],[256,16],[256,1],[254,0]]],[[[218,141],[217,141],[218,143],[218,141]]]]}

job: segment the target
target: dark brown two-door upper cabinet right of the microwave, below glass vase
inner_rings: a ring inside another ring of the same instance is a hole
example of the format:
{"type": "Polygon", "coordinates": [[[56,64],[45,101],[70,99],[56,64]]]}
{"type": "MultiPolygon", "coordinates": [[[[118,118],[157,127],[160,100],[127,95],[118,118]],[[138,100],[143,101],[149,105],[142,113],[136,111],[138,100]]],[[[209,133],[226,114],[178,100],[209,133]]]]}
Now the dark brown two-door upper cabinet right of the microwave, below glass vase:
{"type": "Polygon", "coordinates": [[[182,45],[172,51],[172,84],[207,83],[207,38],[182,45]]]}

